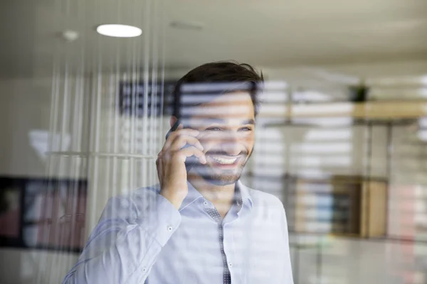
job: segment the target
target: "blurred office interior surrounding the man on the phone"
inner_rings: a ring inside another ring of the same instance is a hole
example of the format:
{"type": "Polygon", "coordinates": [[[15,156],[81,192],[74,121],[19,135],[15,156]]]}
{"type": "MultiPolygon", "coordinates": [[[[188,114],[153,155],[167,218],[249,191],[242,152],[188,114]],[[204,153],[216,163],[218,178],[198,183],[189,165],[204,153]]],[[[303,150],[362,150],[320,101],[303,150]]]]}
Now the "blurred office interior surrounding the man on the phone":
{"type": "Polygon", "coordinates": [[[157,182],[171,88],[214,60],[265,75],[242,179],[285,204],[295,283],[427,283],[426,1],[0,11],[0,283],[60,283],[107,199],[157,182]]]}

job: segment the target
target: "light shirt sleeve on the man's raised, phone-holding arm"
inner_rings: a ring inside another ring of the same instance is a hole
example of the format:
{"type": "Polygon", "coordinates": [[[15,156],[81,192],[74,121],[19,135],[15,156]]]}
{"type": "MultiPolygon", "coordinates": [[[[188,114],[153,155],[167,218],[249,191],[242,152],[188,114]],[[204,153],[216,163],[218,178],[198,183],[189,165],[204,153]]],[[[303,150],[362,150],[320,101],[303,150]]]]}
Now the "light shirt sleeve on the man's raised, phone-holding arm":
{"type": "Polygon", "coordinates": [[[142,207],[132,198],[112,197],[108,201],[63,284],[144,283],[163,246],[181,223],[181,214],[174,205],[152,193],[155,196],[145,198],[142,207]]]}

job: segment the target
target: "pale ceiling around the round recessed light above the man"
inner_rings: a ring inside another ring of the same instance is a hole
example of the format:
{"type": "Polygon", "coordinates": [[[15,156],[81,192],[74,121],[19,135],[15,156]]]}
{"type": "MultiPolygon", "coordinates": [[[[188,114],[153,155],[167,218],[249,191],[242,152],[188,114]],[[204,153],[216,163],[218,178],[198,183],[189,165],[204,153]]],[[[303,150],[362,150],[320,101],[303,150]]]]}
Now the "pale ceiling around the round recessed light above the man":
{"type": "Polygon", "coordinates": [[[6,0],[0,11],[2,77],[51,75],[58,62],[60,70],[64,62],[86,71],[148,66],[162,57],[162,36],[169,69],[229,59],[273,69],[357,63],[367,67],[350,75],[364,77],[373,62],[427,59],[426,0],[6,0]],[[171,21],[204,28],[176,29],[171,21]],[[94,31],[100,23],[144,33],[106,38],[94,31]],[[80,38],[63,42],[65,29],[80,38]]]}

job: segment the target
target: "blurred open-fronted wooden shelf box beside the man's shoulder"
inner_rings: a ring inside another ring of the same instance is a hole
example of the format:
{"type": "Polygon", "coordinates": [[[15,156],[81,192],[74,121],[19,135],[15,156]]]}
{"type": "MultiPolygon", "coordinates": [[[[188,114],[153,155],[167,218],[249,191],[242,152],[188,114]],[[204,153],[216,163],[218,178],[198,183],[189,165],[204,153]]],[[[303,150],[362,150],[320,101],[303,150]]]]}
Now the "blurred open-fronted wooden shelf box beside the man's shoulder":
{"type": "MultiPolygon", "coordinates": [[[[386,234],[385,180],[334,176],[328,180],[298,178],[288,208],[296,232],[376,237],[386,234]]],[[[289,220],[288,220],[289,222],[289,220]]]]}

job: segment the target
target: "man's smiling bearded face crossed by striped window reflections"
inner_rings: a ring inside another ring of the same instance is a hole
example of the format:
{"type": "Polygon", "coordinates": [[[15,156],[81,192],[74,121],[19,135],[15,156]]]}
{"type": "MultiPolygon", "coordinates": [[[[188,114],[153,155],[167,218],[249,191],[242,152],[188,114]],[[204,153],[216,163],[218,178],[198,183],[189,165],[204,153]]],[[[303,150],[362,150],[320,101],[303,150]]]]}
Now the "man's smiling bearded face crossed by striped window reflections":
{"type": "Polygon", "coordinates": [[[215,185],[233,184],[253,151],[255,116],[250,94],[221,94],[193,111],[189,126],[200,131],[207,163],[196,163],[191,170],[215,185]]]}

